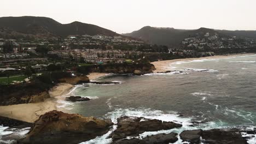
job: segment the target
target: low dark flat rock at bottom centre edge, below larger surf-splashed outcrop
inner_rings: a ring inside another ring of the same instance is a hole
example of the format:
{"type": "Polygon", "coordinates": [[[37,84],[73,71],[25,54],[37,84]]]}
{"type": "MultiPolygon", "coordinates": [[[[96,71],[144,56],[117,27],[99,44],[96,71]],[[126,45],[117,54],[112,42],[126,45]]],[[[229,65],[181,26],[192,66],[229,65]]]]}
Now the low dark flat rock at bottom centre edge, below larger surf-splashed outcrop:
{"type": "Polygon", "coordinates": [[[143,137],[143,139],[122,139],[113,142],[112,144],[133,144],[133,143],[139,143],[139,144],[168,144],[168,143],[174,143],[178,141],[178,138],[176,137],[178,134],[176,133],[170,133],[170,134],[156,134],[151,135],[147,137],[143,137]]]}

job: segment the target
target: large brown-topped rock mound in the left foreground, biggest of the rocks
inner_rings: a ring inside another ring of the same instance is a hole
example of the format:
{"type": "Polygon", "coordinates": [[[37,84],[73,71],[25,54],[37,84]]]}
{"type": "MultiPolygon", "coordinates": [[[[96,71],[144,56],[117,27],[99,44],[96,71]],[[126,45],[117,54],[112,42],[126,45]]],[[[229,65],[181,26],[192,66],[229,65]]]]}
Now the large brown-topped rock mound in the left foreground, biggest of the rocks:
{"type": "Polygon", "coordinates": [[[106,134],[110,120],[50,111],[34,122],[24,143],[80,143],[106,134]]]}

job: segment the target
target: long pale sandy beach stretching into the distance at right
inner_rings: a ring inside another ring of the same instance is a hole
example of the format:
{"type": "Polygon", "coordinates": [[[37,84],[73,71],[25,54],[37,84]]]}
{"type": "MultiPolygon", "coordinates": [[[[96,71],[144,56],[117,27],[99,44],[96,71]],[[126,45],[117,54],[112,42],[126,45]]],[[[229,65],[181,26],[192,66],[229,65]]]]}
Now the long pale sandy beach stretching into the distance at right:
{"type": "Polygon", "coordinates": [[[242,54],[230,54],[230,55],[216,55],[216,56],[209,56],[209,57],[199,57],[199,58],[180,58],[180,59],[172,59],[172,60],[166,60],[166,61],[156,61],[152,62],[155,66],[155,70],[153,73],[162,73],[167,70],[167,65],[170,63],[174,62],[179,62],[179,61],[193,61],[193,60],[198,60],[198,59],[211,59],[211,58],[229,58],[229,57],[234,57],[234,56],[249,56],[249,55],[255,55],[255,53],[242,53],[242,54]]]}

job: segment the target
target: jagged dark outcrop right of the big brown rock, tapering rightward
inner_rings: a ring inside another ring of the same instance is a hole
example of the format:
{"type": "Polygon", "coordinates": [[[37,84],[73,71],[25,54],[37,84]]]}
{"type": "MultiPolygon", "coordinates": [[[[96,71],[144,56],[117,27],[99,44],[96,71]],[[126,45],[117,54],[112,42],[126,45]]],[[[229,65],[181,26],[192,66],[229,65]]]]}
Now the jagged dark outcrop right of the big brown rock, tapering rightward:
{"type": "Polygon", "coordinates": [[[162,122],[158,119],[146,119],[143,117],[120,117],[118,128],[113,131],[114,140],[124,139],[127,136],[138,136],[145,131],[158,131],[182,127],[182,124],[162,122]]]}

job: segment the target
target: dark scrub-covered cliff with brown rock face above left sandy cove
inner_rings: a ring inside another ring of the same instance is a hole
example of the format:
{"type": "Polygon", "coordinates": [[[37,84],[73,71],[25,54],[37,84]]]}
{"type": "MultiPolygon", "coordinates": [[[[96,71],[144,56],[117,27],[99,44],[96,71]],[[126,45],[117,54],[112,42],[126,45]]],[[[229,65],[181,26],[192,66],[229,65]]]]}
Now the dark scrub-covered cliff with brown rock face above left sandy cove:
{"type": "Polygon", "coordinates": [[[85,75],[70,76],[65,75],[43,75],[30,83],[21,83],[17,85],[0,85],[0,106],[17,105],[27,103],[40,103],[50,98],[49,90],[59,82],[77,85],[78,83],[88,83],[89,78],[85,75]],[[54,78],[54,80],[52,80],[54,78]],[[43,79],[43,80],[40,80],[43,79]],[[53,83],[55,81],[56,83],[53,83]]]}

